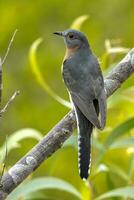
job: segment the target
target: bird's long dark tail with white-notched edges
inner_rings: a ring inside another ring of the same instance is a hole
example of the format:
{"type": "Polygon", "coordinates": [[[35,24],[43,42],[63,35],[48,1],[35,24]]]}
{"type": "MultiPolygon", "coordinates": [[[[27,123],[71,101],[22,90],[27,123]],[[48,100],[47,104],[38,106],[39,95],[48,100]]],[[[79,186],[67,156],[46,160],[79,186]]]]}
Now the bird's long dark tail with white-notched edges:
{"type": "Polygon", "coordinates": [[[91,160],[91,133],[93,125],[82,114],[78,107],[75,108],[78,123],[79,173],[82,179],[87,179],[91,160]]]}

